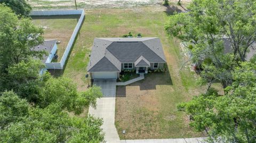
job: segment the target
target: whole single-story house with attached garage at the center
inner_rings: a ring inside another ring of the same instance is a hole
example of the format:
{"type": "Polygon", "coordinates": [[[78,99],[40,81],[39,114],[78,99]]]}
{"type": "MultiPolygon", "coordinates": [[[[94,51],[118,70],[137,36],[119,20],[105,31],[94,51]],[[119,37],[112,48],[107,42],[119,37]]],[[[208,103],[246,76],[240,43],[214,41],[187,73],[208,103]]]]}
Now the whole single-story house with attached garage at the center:
{"type": "Polygon", "coordinates": [[[87,71],[91,79],[117,79],[123,70],[148,73],[165,63],[159,38],[95,38],[87,71]]]}

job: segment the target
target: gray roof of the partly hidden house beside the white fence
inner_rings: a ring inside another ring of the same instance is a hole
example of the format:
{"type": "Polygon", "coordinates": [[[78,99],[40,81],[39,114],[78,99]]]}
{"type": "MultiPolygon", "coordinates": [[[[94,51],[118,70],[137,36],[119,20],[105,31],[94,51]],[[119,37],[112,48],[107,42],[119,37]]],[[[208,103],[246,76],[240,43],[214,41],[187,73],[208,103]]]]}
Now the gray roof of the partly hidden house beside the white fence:
{"type": "Polygon", "coordinates": [[[46,51],[47,55],[44,55],[43,59],[41,60],[42,63],[45,63],[49,54],[52,52],[52,48],[56,44],[56,42],[57,42],[57,40],[44,40],[43,44],[31,48],[31,50],[33,50],[33,51],[43,51],[43,50],[46,51]]]}

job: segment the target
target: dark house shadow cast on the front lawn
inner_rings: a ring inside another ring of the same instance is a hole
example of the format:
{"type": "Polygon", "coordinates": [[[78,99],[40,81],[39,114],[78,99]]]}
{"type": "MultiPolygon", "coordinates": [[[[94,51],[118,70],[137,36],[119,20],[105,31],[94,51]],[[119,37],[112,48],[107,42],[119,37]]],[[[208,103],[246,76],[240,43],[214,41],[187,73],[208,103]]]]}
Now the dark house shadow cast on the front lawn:
{"type": "Polygon", "coordinates": [[[127,86],[116,87],[116,97],[126,97],[126,87],[139,86],[140,90],[155,90],[158,85],[173,85],[169,71],[145,74],[145,79],[127,86]]]}

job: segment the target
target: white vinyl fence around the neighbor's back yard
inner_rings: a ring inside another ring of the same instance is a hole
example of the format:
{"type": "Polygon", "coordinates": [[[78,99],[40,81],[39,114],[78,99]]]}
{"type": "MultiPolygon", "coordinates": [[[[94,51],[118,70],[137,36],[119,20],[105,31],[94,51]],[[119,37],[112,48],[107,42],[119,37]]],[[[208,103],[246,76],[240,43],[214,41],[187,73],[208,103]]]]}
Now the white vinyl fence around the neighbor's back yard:
{"type": "Polygon", "coordinates": [[[75,41],[75,38],[77,36],[77,33],[82,26],[82,22],[84,20],[84,10],[41,10],[41,11],[32,11],[30,13],[31,16],[50,16],[50,15],[81,15],[75,30],[72,33],[71,38],[69,39],[68,45],[65,49],[64,54],[61,57],[61,60],[59,63],[45,63],[47,69],[63,69],[63,66],[66,63],[68,54],[70,52],[70,49],[75,41]]]}

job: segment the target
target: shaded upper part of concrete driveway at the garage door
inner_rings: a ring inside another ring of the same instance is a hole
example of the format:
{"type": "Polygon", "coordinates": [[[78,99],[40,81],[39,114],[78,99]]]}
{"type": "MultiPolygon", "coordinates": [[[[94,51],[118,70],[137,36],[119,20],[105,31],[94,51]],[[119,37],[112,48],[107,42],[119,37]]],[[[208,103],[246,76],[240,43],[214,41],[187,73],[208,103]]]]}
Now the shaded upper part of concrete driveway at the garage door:
{"type": "Polygon", "coordinates": [[[93,85],[101,87],[103,97],[116,97],[116,79],[94,79],[93,85]]]}

